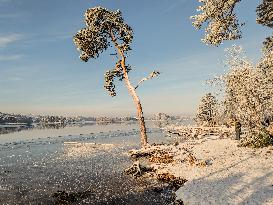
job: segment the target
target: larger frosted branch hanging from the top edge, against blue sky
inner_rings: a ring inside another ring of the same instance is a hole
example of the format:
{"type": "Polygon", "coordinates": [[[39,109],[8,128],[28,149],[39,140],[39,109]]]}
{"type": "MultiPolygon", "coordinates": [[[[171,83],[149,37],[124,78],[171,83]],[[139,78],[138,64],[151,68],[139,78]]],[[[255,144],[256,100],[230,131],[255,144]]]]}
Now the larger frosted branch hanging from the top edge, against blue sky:
{"type": "Polygon", "coordinates": [[[241,0],[199,0],[200,12],[191,16],[193,26],[197,29],[206,24],[205,37],[202,41],[209,45],[220,45],[224,40],[235,40],[242,37],[234,8],[241,0]]]}

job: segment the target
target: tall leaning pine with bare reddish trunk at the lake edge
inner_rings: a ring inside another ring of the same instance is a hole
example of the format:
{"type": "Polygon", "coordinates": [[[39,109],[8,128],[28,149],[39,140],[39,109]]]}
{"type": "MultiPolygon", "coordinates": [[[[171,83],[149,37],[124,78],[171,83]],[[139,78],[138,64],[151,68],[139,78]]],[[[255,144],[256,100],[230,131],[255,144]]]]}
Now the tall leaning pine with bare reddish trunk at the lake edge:
{"type": "Polygon", "coordinates": [[[137,86],[131,84],[128,76],[131,66],[126,63],[126,57],[131,50],[133,30],[124,22],[119,10],[110,11],[102,7],[90,8],[85,12],[85,23],[86,28],[81,29],[73,39],[81,52],[80,58],[87,62],[90,58],[98,58],[103,51],[114,46],[117,62],[114,69],[105,73],[104,87],[111,96],[116,96],[114,79],[124,80],[137,108],[141,145],[145,147],[147,145],[146,126],[136,89],[143,81],[157,76],[159,72],[153,71],[148,77],[143,78],[137,86]]]}

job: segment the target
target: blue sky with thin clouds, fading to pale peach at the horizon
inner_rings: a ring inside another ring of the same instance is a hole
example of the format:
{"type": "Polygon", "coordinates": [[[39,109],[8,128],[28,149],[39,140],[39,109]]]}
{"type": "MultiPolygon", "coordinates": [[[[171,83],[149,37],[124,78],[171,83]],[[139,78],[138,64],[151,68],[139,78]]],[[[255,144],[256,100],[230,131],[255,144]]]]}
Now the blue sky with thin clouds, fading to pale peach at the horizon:
{"type": "MultiPolygon", "coordinates": [[[[203,32],[191,26],[195,0],[0,0],[0,111],[61,115],[133,115],[135,106],[121,82],[112,98],[103,74],[114,65],[104,54],[80,61],[72,37],[84,27],[86,9],[120,9],[134,29],[128,62],[132,81],[159,70],[138,95],[147,115],[194,114],[200,97],[210,91],[205,81],[223,72],[224,48],[242,45],[257,60],[270,30],[257,25],[258,0],[243,1],[238,13],[246,22],[243,39],[210,47],[203,32]]],[[[272,32],[272,31],[271,31],[272,32]]]]}

